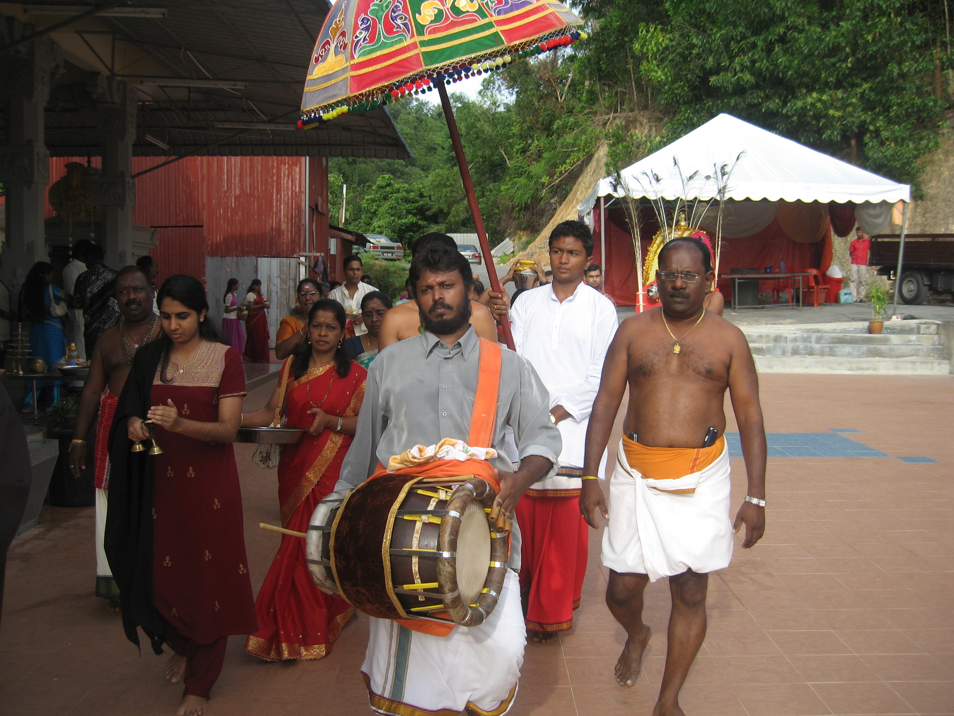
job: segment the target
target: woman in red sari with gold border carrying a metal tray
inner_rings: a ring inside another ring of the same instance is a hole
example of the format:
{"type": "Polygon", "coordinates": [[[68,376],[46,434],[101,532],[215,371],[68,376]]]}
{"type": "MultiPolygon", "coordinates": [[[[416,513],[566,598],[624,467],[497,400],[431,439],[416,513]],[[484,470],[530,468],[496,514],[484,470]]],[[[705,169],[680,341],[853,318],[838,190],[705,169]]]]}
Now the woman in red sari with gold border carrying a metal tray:
{"type": "MultiPolygon", "coordinates": [[[[354,439],[364,397],[367,371],[349,360],[342,347],[346,317],[342,305],[321,299],[308,312],[307,350],[285,362],[288,376],[286,428],[308,434],[285,446],[279,462],[281,525],[307,532],[321,499],[338,482],[344,454],[354,439]]],[[[260,411],[242,415],[242,425],[271,424],[279,405],[280,387],[260,411]]],[[[325,595],[315,586],[305,562],[304,540],[281,537],[255,602],[259,630],[245,650],[269,662],[323,659],[338,639],[354,609],[345,600],[325,595]]]]}

